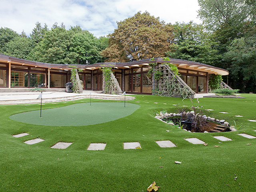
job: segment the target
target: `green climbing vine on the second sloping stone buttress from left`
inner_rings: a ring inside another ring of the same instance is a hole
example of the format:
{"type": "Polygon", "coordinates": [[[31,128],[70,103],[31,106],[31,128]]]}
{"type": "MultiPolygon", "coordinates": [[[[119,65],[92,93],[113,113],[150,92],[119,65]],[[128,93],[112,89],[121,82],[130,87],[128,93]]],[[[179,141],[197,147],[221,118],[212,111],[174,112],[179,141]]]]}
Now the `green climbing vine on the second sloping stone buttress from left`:
{"type": "MultiPolygon", "coordinates": [[[[114,80],[111,77],[111,74],[114,72],[112,72],[111,67],[106,67],[106,65],[101,65],[101,66],[102,67],[100,69],[102,70],[102,74],[104,76],[104,82],[105,82],[104,93],[116,94],[116,85],[114,83],[114,80]]],[[[108,65],[108,66],[112,66],[112,65],[108,65]]]]}

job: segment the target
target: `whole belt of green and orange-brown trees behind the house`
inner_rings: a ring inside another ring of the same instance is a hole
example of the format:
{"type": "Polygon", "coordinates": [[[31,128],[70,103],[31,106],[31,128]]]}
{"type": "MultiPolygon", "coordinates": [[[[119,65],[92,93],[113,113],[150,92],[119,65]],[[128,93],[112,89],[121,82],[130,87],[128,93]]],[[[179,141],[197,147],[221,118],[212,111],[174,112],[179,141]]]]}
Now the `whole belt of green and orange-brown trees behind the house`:
{"type": "MultiPolygon", "coordinates": [[[[107,37],[80,26],[36,22],[30,35],[0,28],[0,53],[55,64],[130,62],[170,57],[227,69],[233,89],[256,93],[256,0],[198,0],[194,22],[160,21],[149,12],[117,22],[107,37]]],[[[171,16],[171,14],[170,14],[171,16]]]]}

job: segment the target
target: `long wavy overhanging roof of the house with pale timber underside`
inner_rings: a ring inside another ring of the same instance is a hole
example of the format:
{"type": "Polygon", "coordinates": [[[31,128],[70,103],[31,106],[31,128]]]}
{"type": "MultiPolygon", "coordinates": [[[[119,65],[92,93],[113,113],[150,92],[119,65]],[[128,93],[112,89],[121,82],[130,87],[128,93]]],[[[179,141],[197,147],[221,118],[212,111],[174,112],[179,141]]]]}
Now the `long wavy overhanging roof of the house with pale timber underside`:
{"type": "MultiPolygon", "coordinates": [[[[20,58],[16,58],[16,57],[12,57],[12,56],[7,56],[4,54],[0,54],[0,62],[2,62],[2,63],[11,62],[12,64],[22,64],[22,65],[26,65],[26,66],[60,69],[60,70],[70,69],[68,67],[69,64],[50,64],[50,63],[20,59],[20,58]]],[[[76,64],[71,64],[71,65],[77,66],[78,68],[81,68],[84,70],[85,69],[86,70],[98,69],[101,67],[101,65],[106,65],[106,66],[110,65],[110,66],[114,66],[114,68],[124,69],[124,68],[148,66],[150,63],[154,63],[154,62],[157,62],[159,64],[172,63],[172,64],[175,64],[179,69],[196,70],[196,71],[200,71],[200,72],[208,72],[209,74],[228,75],[228,70],[225,70],[222,68],[202,64],[199,62],[181,60],[181,59],[173,59],[173,58],[170,58],[170,61],[166,61],[163,58],[154,58],[154,60],[144,59],[144,60],[139,60],[139,61],[134,61],[134,62],[103,62],[103,63],[95,63],[92,65],[76,65],[76,64]]]]}

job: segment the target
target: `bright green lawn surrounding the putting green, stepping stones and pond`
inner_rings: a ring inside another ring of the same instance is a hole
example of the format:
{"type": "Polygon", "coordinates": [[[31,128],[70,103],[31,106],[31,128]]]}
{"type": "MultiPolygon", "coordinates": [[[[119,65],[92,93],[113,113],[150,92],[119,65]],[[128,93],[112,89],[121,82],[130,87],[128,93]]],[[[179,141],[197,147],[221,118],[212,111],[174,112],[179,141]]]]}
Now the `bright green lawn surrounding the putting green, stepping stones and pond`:
{"type": "MultiPolygon", "coordinates": [[[[157,110],[175,112],[176,106],[172,104],[191,106],[188,99],[137,95],[136,100],[129,101],[140,105],[134,113],[87,126],[43,126],[18,122],[9,116],[38,110],[40,106],[2,105],[0,191],[146,192],[154,181],[160,186],[159,192],[255,191],[256,139],[244,138],[237,133],[256,136],[256,122],[246,120],[256,119],[256,95],[242,96],[246,99],[199,99],[199,106],[214,110],[206,112],[207,116],[227,120],[230,124],[234,123],[233,120],[236,124],[244,124],[244,128],[237,132],[206,134],[180,130],[154,118],[157,110]],[[23,132],[30,135],[12,137],[23,132]],[[232,141],[221,142],[212,137],[220,135],[232,141]],[[184,140],[192,137],[208,145],[194,145],[184,140]],[[23,143],[34,138],[45,140],[33,145],[23,143]],[[177,147],[160,148],[155,142],[157,140],[170,140],[177,147]],[[58,141],[73,144],[64,150],[50,148],[58,141]],[[86,150],[90,143],[100,142],[106,143],[105,150],[86,150]],[[142,149],[124,150],[124,142],[140,142],[142,149]],[[221,147],[216,148],[215,145],[221,147]],[[182,164],[174,161],[182,161],[182,164]]],[[[81,101],[90,102],[90,99],[45,104],[42,108],[57,108],[81,101]]],[[[195,99],[193,102],[196,104],[195,99]]]]}

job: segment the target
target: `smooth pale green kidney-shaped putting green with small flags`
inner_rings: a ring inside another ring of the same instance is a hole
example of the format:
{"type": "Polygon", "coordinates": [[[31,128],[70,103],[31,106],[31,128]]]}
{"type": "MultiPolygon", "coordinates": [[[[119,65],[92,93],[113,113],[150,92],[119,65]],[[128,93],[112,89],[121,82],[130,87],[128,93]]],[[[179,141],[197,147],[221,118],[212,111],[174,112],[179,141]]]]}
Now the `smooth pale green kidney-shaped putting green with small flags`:
{"type": "Polygon", "coordinates": [[[140,106],[123,102],[92,102],[59,108],[18,113],[10,119],[24,123],[48,126],[84,126],[113,121],[132,114],[140,106]]]}

